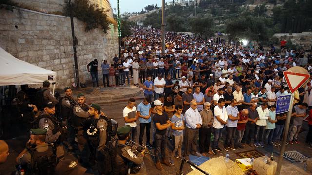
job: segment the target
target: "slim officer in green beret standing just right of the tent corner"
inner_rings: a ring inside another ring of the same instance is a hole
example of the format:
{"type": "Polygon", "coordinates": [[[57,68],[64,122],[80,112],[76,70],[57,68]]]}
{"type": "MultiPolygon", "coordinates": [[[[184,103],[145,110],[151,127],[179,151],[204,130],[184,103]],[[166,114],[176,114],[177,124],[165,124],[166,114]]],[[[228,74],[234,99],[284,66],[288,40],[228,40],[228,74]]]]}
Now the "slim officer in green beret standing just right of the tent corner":
{"type": "Polygon", "coordinates": [[[73,118],[73,108],[76,105],[75,100],[72,97],[72,89],[70,87],[66,87],[64,89],[65,96],[61,98],[61,111],[60,117],[62,118],[62,122],[67,126],[67,147],[69,150],[73,150],[73,145],[75,141],[75,130],[70,124],[71,118],[73,118]]]}

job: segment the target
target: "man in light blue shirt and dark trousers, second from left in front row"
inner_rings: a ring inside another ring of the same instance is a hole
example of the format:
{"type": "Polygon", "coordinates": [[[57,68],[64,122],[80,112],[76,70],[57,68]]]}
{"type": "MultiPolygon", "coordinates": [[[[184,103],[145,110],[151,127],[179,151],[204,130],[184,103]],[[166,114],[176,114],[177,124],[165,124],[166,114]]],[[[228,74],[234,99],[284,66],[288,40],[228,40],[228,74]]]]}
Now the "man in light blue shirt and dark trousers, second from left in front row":
{"type": "Polygon", "coordinates": [[[148,146],[152,146],[150,144],[150,131],[151,131],[151,104],[148,102],[147,98],[143,99],[143,102],[137,105],[137,113],[140,120],[140,136],[139,143],[142,145],[144,129],[146,127],[146,144],[148,146]]]}

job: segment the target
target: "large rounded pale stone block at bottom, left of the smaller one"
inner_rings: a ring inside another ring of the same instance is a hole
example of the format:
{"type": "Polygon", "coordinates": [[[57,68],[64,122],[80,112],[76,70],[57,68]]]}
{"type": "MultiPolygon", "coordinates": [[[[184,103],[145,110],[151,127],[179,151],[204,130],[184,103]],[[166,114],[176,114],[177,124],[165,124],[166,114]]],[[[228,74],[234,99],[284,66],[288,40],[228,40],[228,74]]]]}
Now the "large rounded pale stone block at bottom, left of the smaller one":
{"type": "MultiPolygon", "coordinates": [[[[206,171],[210,175],[245,175],[245,173],[240,169],[240,167],[229,160],[225,162],[225,157],[220,156],[217,158],[212,158],[203,164],[198,166],[202,170],[206,171]]],[[[197,169],[191,171],[187,175],[201,175],[202,173],[197,169]]]]}

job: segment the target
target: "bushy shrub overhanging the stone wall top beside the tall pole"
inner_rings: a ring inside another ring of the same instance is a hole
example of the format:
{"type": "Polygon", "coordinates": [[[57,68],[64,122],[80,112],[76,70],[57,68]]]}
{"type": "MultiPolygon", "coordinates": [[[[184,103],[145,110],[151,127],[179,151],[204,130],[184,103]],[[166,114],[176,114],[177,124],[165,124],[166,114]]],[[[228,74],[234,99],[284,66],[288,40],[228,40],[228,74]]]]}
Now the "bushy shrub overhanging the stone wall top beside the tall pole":
{"type": "Polygon", "coordinates": [[[89,0],[74,0],[72,3],[66,1],[66,6],[64,7],[66,16],[70,16],[71,9],[74,17],[77,17],[79,20],[86,23],[86,31],[90,31],[100,26],[103,29],[103,32],[107,34],[110,23],[106,15],[108,10],[89,3],[89,0]]]}

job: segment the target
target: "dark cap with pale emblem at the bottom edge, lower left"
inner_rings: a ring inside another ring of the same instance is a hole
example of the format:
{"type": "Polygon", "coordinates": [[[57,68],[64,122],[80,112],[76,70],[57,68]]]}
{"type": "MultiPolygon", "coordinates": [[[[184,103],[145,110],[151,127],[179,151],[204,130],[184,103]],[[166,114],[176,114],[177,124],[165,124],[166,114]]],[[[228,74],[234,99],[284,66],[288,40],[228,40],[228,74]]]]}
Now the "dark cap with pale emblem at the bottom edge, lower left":
{"type": "Polygon", "coordinates": [[[55,168],[55,175],[83,175],[87,171],[86,168],[83,168],[78,164],[78,162],[65,159],[60,161],[55,168]]]}

